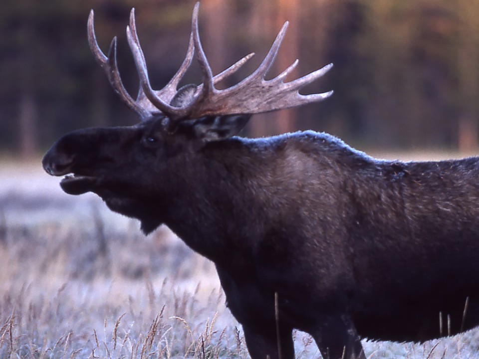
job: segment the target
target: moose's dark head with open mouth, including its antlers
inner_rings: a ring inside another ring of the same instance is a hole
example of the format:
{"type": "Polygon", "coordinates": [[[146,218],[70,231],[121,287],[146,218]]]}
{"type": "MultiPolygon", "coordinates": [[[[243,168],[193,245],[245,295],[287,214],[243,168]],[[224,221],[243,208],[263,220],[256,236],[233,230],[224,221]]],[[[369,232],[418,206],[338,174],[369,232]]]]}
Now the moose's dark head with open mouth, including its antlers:
{"type": "MultiPolygon", "coordinates": [[[[134,100],[123,86],[116,60],[117,39],[113,38],[105,55],[96,40],[93,10],[88,18],[88,41],[113,89],[123,102],[140,117],[131,127],[94,128],[72,132],[59,141],[43,158],[43,168],[53,176],[65,176],[60,182],[69,194],[88,191],[101,196],[114,211],[136,217],[142,228],[150,232],[163,223],[162,212],[167,203],[157,202],[160,192],[171,194],[185,167],[201,163],[199,156],[210,147],[235,136],[252,114],[296,107],[322,101],[332,91],[302,95],[298,90],[320,78],[332,66],[326,65],[294,81],[284,82],[296,67],[294,61],[278,76],[266,80],[288,23],[284,23],[269,52],[258,68],[238,84],[219,90],[219,81],[235,73],[253,53],[213,76],[203,50],[198,29],[199,2],[193,11],[192,31],[183,64],[170,82],[161,90],[153,90],[148,77],[145,56],[140,46],[131,10],[126,33],[140,79],[134,100]],[[203,73],[203,83],[179,84],[189,69],[195,52],[203,73]]],[[[185,180],[195,180],[193,178],[185,180]]]]}

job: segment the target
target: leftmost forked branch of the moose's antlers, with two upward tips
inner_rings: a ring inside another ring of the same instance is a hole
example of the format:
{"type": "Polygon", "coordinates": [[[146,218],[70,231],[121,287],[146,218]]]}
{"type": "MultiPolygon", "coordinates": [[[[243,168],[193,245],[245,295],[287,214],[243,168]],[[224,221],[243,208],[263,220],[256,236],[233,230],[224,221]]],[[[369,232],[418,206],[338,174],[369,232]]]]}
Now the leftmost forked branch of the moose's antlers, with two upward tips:
{"type": "Polygon", "coordinates": [[[94,25],[94,12],[93,9],[90,10],[90,15],[88,16],[88,44],[90,45],[91,52],[93,53],[96,61],[100,64],[101,68],[105,71],[108,80],[110,81],[113,89],[116,93],[120,95],[120,98],[123,102],[132,110],[136,111],[140,117],[148,116],[149,112],[146,111],[143,107],[139,106],[130,94],[126,91],[125,86],[120,77],[120,72],[118,70],[118,64],[116,61],[116,36],[113,37],[110,48],[108,50],[108,56],[105,56],[103,51],[98,45],[95,35],[95,25],[94,25]]]}

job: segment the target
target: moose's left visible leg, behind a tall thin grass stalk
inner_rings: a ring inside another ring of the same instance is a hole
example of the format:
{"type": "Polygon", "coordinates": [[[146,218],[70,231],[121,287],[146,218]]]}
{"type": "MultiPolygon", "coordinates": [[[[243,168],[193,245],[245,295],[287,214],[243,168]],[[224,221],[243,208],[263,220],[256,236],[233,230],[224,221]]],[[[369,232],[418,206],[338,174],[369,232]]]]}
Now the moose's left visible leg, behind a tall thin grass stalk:
{"type": "Polygon", "coordinates": [[[243,325],[244,339],[251,359],[294,359],[292,329],[279,331],[279,347],[275,325],[260,329],[243,325]]]}

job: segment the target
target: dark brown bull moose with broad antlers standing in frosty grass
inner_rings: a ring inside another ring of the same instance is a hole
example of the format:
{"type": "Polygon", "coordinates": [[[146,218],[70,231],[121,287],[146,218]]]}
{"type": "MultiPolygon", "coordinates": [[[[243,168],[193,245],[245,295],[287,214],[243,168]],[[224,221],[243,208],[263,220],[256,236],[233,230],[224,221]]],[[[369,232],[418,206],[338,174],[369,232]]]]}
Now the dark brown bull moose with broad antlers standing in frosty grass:
{"type": "Polygon", "coordinates": [[[134,100],[116,37],[105,55],[91,11],[91,50],[141,121],[63,136],[45,154],[45,171],[66,175],[66,193],[94,192],[139,219],[145,234],[166,224],[211,259],[253,359],[293,359],[293,329],[311,334],[325,359],[364,359],[361,338],[425,341],[477,326],[479,158],[378,160],[313,131],[236,136],[255,113],[329,97],[299,90],[331,64],[285,82],[296,60],[265,79],[286,22],[257,69],[219,90],[252,54],[213,76],[198,13],[199,3],[183,64],[153,90],[132,9],[134,100]],[[203,83],[179,88],[194,57],[203,83]]]}

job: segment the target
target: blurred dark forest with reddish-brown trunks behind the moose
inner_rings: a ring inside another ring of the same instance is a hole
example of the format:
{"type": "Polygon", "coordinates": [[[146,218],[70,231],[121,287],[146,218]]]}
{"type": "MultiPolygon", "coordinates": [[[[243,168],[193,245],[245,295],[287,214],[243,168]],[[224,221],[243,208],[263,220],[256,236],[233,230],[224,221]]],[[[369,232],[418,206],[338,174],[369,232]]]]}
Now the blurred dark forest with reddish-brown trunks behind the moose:
{"type": "MultiPolygon", "coordinates": [[[[120,72],[136,96],[125,35],[130,8],[136,7],[151,81],[161,88],[185,56],[193,5],[194,0],[4,1],[0,153],[34,157],[68,131],[137,121],[90,53],[90,8],[105,52],[118,36],[120,72]]],[[[479,0],[203,0],[200,32],[215,73],[256,52],[224,86],[253,71],[285,20],[290,26],[272,72],[295,58],[300,62],[291,77],[333,62],[303,92],[335,93],[320,104],[256,115],[243,135],[314,129],[360,149],[477,150],[479,0]]],[[[196,64],[184,79],[191,82],[201,82],[196,64]]]]}

